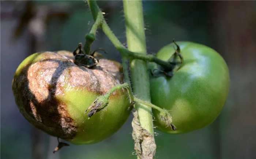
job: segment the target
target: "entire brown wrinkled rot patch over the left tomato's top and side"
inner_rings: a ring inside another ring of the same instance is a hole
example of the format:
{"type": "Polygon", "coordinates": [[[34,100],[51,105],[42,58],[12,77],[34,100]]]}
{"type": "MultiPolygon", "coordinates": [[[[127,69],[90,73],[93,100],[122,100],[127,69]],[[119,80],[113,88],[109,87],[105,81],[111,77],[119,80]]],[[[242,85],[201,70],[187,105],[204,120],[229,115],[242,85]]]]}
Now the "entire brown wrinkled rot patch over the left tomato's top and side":
{"type": "MultiPolygon", "coordinates": [[[[99,65],[89,69],[74,64],[68,55],[67,52],[38,53],[36,60],[28,62],[12,83],[15,102],[23,116],[35,127],[61,139],[74,138],[78,127],[67,105],[56,96],[72,88],[104,95],[118,84],[114,76],[121,75],[115,71],[122,68],[121,64],[102,59],[99,65]]],[[[115,95],[118,91],[112,96],[115,95]]]]}

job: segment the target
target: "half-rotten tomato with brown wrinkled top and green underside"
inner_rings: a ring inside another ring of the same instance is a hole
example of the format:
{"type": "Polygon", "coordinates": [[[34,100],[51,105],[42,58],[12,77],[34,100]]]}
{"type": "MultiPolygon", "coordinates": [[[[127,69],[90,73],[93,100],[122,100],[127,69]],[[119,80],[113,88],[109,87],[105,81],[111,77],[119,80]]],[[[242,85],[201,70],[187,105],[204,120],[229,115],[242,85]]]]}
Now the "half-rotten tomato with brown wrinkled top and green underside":
{"type": "Polygon", "coordinates": [[[84,113],[118,84],[114,76],[121,64],[101,59],[89,69],[72,61],[72,53],[65,51],[27,57],[12,81],[15,102],[31,124],[49,135],[73,144],[97,143],[113,135],[131,113],[126,89],[115,91],[108,106],[90,119],[84,113]]]}

